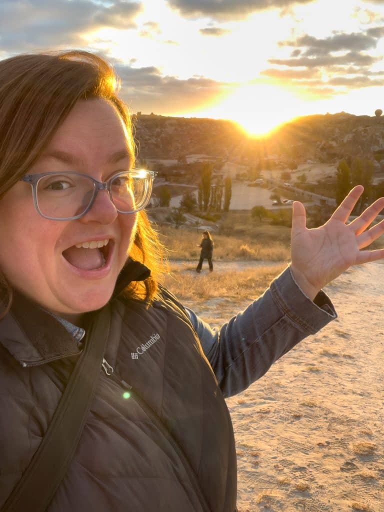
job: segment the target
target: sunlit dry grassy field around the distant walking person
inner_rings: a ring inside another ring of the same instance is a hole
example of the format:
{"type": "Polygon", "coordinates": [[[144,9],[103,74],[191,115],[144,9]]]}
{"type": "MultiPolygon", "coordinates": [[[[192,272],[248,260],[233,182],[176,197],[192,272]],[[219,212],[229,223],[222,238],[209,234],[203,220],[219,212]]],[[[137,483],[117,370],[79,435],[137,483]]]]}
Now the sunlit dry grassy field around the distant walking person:
{"type": "Polygon", "coordinates": [[[289,262],[289,228],[249,223],[249,216],[241,213],[230,215],[220,223],[218,233],[212,232],[214,266],[215,262],[231,262],[230,270],[220,271],[217,265],[212,273],[196,274],[197,245],[202,237],[196,228],[163,225],[158,230],[169,260],[169,273],[162,283],[213,324],[220,324],[263,293],[289,262]],[[231,234],[222,234],[228,221],[231,234]]]}

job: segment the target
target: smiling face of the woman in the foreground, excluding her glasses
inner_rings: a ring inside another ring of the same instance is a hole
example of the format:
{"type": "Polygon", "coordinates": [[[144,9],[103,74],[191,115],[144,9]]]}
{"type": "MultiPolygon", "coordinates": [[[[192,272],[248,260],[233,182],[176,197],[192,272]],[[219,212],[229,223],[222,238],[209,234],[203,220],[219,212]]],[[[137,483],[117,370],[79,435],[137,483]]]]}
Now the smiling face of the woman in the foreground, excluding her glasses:
{"type": "MultiPolygon", "coordinates": [[[[120,116],[109,102],[91,99],[78,101],[28,174],[75,170],[106,181],[129,166],[120,116]]],[[[118,214],[108,192],[99,191],[80,219],[52,221],[35,210],[31,185],[18,182],[0,200],[0,219],[0,269],[14,288],[73,322],[109,301],[136,214],[118,214]],[[105,264],[98,248],[74,247],[100,240],[109,240],[105,264]]]]}

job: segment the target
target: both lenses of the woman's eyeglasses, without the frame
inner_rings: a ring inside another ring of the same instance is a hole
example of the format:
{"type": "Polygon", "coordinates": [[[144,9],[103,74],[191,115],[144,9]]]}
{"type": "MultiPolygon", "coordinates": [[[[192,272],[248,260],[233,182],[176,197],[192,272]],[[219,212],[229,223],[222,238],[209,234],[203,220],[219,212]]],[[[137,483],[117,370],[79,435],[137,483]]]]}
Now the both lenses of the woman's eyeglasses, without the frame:
{"type": "MultiPolygon", "coordinates": [[[[76,174],[56,174],[40,178],[37,183],[37,205],[42,215],[71,218],[81,215],[94,198],[92,179],[76,174]]],[[[151,192],[151,177],[141,173],[118,175],[111,182],[111,196],[121,213],[145,206],[151,192]]]]}

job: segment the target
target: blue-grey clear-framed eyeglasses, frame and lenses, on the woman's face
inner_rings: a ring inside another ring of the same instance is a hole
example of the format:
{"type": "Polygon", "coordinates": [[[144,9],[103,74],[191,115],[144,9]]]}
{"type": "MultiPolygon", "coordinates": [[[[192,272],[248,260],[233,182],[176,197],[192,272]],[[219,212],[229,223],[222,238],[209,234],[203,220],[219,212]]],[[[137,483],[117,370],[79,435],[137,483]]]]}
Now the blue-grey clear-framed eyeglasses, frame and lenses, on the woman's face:
{"type": "Polygon", "coordinates": [[[27,174],[20,181],[32,186],[33,203],[41,217],[54,221],[80,219],[92,208],[99,190],[106,190],[120,214],[133,214],[148,204],[156,172],[124,170],[108,181],[75,171],[27,174]]]}

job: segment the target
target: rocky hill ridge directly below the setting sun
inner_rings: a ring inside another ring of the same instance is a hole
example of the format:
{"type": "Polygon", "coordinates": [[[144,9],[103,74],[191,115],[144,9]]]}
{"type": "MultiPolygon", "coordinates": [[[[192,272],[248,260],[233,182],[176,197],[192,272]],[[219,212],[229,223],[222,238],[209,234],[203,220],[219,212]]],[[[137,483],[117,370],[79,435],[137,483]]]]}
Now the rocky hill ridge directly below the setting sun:
{"type": "Polygon", "coordinates": [[[300,117],[269,136],[255,138],[232,121],[138,114],[141,158],[179,159],[205,154],[244,163],[276,158],[332,162],[347,156],[384,158],[384,116],[339,114],[300,117]]]}

